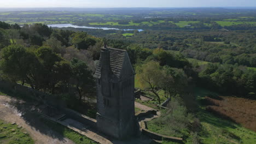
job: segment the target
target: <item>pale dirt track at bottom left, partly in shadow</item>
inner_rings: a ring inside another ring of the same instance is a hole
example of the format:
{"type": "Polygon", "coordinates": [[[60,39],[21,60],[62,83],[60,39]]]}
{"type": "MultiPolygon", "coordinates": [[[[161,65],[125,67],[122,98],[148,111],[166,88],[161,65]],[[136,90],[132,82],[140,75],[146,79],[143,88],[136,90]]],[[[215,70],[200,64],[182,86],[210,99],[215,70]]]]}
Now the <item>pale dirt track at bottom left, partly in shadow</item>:
{"type": "Polygon", "coordinates": [[[73,144],[73,142],[40,122],[35,107],[24,101],[0,95],[0,118],[25,128],[36,144],[73,144]]]}

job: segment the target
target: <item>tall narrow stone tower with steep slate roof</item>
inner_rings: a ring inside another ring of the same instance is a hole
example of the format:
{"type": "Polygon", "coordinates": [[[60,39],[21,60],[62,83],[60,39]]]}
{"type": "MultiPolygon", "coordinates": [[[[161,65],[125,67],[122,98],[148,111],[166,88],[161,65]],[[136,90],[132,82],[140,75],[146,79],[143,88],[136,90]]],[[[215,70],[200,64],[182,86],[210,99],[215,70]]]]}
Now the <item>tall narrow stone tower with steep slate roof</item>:
{"type": "Polygon", "coordinates": [[[94,74],[97,83],[97,128],[117,139],[137,130],[134,103],[135,71],[125,50],[101,49],[94,74]]]}

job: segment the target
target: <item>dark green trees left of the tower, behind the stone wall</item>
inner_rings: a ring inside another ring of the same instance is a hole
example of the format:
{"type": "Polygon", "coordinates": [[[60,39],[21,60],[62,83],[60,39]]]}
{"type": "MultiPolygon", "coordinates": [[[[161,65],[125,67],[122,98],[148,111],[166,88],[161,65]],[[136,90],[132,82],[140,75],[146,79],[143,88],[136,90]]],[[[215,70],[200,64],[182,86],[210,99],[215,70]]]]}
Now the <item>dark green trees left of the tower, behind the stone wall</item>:
{"type": "Polygon", "coordinates": [[[95,95],[92,74],[102,39],[42,24],[0,27],[2,80],[59,95],[72,105],[95,95]]]}

